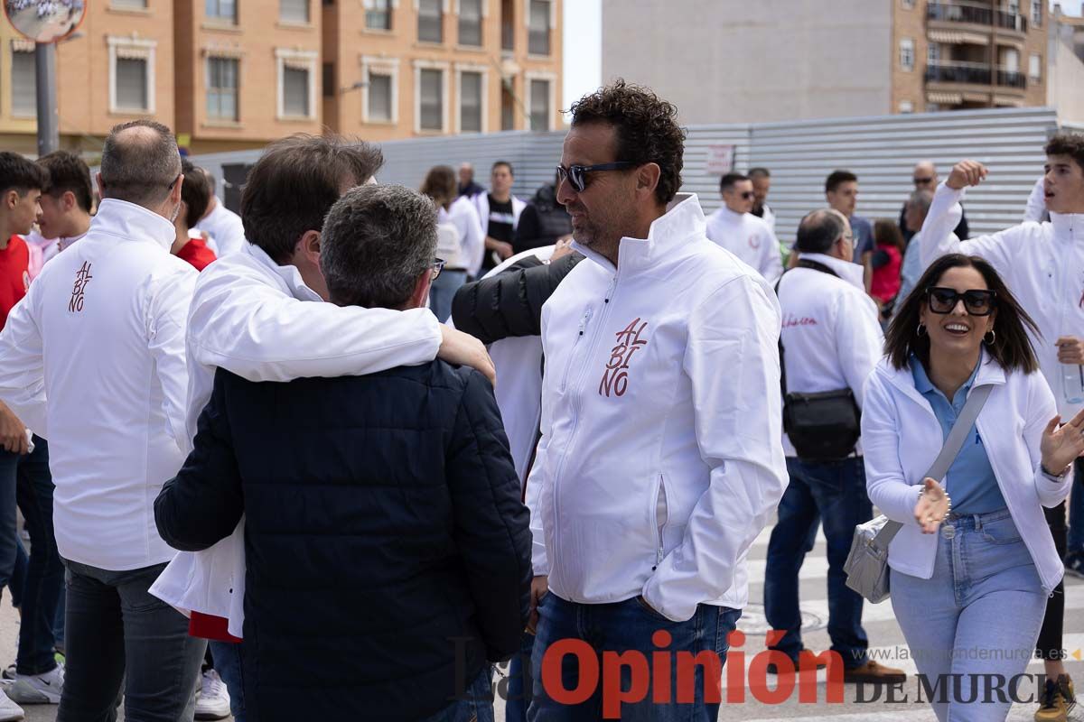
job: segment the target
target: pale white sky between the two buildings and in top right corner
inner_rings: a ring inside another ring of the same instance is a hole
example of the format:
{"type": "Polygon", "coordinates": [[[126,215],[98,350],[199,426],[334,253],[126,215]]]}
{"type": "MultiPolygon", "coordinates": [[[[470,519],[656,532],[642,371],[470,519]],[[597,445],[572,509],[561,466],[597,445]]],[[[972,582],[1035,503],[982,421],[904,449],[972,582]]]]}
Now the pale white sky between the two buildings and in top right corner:
{"type": "MultiPolygon", "coordinates": [[[[1056,1],[1068,15],[1081,14],[1084,0],[1056,1]]],[[[602,0],[565,0],[565,92],[562,109],[594,91],[603,81],[602,0]]]]}

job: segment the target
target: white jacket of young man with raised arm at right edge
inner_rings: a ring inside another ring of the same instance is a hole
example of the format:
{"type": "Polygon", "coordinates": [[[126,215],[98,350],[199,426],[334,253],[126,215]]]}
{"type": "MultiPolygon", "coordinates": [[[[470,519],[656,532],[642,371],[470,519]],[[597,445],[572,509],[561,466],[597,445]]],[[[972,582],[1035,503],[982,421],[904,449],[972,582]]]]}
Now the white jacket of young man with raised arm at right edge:
{"type": "MultiPolygon", "coordinates": [[[[980,255],[997,271],[1038,326],[1032,338],[1058,412],[1071,419],[1084,405],[1066,401],[1058,349],[1060,336],[1084,338],[1084,213],[1050,213],[1046,223],[1021,223],[990,236],[960,241],[953,234],[965,192],[942,183],[922,224],[922,268],[945,253],[980,255]]],[[[1053,415],[1051,415],[1053,416],[1053,415]]],[[[1049,419],[1048,419],[1049,420],[1049,419]]]]}

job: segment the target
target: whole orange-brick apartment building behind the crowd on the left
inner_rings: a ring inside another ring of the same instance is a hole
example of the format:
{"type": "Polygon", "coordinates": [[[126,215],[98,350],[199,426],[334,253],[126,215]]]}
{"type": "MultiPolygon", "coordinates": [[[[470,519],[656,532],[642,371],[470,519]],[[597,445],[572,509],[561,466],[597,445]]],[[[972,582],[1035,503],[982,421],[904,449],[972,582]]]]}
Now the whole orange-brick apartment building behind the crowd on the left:
{"type": "MultiPolygon", "coordinates": [[[[93,0],[57,45],[61,145],[150,117],[192,153],[560,123],[562,0],[93,0]]],[[[0,19],[0,146],[36,153],[34,45],[0,19]]]]}

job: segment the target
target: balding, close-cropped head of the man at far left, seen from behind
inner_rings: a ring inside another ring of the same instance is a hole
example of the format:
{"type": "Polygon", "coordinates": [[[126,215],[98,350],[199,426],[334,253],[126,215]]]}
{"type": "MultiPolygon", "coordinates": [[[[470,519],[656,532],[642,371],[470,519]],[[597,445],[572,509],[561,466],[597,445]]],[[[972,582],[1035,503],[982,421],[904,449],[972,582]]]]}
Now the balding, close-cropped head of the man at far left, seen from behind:
{"type": "Polygon", "coordinates": [[[114,126],[102,149],[101,172],[105,198],[145,208],[158,206],[181,174],[177,139],[153,120],[114,126]]]}

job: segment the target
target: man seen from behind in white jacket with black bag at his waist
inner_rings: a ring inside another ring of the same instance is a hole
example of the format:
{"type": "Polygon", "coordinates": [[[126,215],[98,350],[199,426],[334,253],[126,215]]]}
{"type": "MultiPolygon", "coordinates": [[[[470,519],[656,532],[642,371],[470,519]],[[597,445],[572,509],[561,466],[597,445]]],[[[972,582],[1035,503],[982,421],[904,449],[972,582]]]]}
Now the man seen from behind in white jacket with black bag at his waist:
{"type": "MultiPolygon", "coordinates": [[[[877,306],[865,292],[863,268],[851,262],[851,225],[838,211],[813,211],[798,226],[795,250],[801,260],[778,285],[785,391],[850,390],[861,409],[862,385],[883,354],[885,337],[877,306]]],[[[844,679],[901,682],[901,670],[868,658],[862,595],[847,588],[843,562],[854,527],[873,516],[861,442],[848,441],[850,449],[841,448],[838,458],[820,459],[803,458],[789,437],[784,439],[790,484],[767,546],[764,612],[772,629],[786,634],[769,646],[799,668],[803,646],[798,574],[820,521],[828,542],[828,635],[831,651],[842,658],[844,679]]]]}

